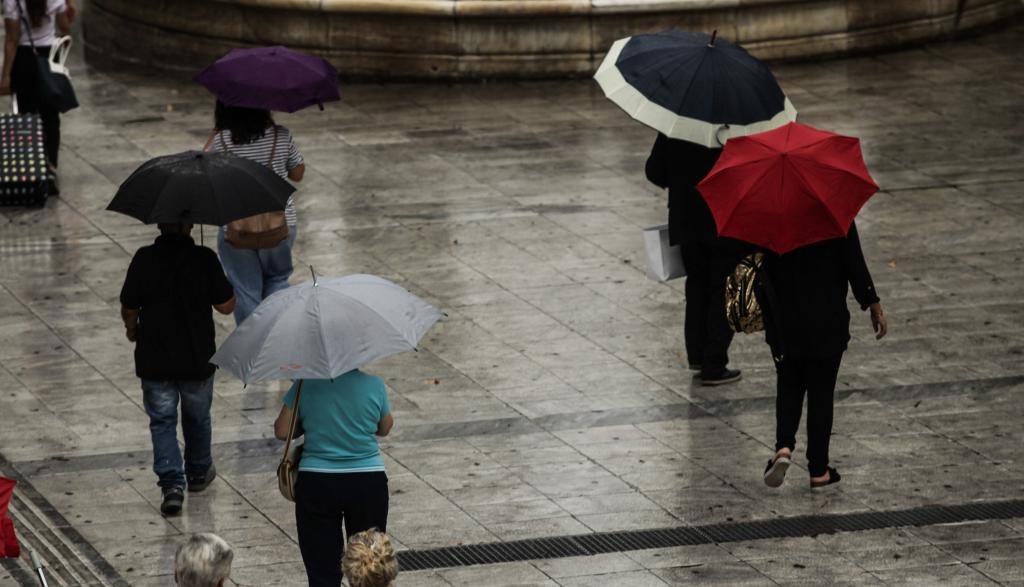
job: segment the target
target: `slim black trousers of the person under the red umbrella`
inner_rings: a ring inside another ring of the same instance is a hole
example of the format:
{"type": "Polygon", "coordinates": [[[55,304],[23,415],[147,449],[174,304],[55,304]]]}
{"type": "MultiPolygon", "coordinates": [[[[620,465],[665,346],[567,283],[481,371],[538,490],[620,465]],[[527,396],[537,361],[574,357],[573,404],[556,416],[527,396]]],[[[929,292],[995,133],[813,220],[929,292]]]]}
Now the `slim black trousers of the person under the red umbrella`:
{"type": "Polygon", "coordinates": [[[807,395],[807,470],[821,476],[828,470],[833,402],[843,353],[830,357],[786,355],[775,367],[775,450],[797,446],[797,429],[807,395]]]}

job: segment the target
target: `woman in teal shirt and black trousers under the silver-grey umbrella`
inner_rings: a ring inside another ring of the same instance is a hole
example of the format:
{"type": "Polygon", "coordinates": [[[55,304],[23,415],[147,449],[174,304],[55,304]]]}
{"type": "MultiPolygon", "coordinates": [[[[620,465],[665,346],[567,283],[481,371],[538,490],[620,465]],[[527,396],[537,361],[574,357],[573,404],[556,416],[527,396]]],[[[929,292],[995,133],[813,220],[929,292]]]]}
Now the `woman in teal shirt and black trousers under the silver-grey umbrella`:
{"type": "MultiPolygon", "coordinates": [[[[288,435],[296,384],[288,391],[273,434],[288,435]]],[[[353,536],[387,531],[388,489],[375,436],[394,419],[384,380],[358,369],[335,379],[306,379],[295,435],[305,435],[295,487],[295,523],[310,587],[341,585],[341,528],[353,536]]]]}

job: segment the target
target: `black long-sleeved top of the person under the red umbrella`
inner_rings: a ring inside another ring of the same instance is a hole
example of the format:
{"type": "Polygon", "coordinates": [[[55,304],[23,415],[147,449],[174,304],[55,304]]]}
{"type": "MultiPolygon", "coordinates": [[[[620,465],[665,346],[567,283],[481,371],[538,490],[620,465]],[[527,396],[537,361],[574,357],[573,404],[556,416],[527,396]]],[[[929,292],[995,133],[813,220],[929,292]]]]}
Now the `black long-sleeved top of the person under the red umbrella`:
{"type": "Polygon", "coordinates": [[[774,305],[764,308],[766,336],[773,348],[781,342],[786,355],[845,351],[850,341],[849,290],[853,289],[861,309],[879,301],[855,223],[845,239],[822,241],[781,256],[766,254],[764,270],[774,294],[774,305]]]}

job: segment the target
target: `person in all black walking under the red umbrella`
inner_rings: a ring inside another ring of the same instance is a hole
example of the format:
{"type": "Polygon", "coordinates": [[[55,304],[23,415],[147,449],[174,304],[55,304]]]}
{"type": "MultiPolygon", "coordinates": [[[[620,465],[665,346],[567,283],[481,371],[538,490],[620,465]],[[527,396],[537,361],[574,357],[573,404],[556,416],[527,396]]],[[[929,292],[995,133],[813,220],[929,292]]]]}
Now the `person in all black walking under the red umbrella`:
{"type": "Polygon", "coordinates": [[[850,340],[849,289],[869,309],[876,338],[889,330],[871,275],[860,249],[856,224],[844,239],[765,256],[764,270],[773,295],[765,305],[768,343],[776,358],[775,457],[764,479],[779,487],[797,444],[797,429],[807,395],[807,469],[811,487],[840,480],[828,466],[833,395],[839,366],[850,340]],[[849,287],[848,285],[849,284],[849,287]]]}

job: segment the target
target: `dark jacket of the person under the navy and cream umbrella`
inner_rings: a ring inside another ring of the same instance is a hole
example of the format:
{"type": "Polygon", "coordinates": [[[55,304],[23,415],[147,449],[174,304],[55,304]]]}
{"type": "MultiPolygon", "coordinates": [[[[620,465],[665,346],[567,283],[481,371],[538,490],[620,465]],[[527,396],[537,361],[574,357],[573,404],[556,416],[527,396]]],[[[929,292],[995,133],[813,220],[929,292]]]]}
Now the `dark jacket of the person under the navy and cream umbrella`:
{"type": "Polygon", "coordinates": [[[669,188],[669,242],[712,244],[718,237],[715,218],[696,184],[715,166],[721,149],[669,138],[658,133],[647,158],[647,179],[669,188]]]}

